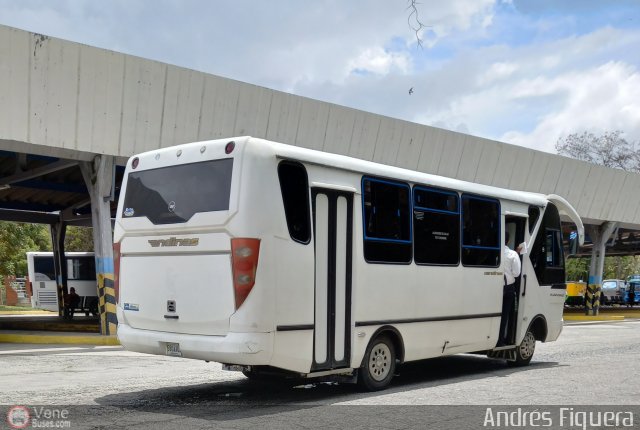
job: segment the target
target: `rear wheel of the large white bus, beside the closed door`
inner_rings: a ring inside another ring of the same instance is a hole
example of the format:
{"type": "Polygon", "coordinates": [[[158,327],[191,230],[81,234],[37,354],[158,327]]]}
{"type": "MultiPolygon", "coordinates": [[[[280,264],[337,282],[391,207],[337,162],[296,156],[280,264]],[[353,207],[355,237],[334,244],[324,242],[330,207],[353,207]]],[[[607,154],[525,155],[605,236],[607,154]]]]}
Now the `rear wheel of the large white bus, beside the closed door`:
{"type": "Polygon", "coordinates": [[[378,336],[369,343],[358,370],[358,384],[367,391],[386,388],[396,370],[396,350],[388,336],[378,336]]]}

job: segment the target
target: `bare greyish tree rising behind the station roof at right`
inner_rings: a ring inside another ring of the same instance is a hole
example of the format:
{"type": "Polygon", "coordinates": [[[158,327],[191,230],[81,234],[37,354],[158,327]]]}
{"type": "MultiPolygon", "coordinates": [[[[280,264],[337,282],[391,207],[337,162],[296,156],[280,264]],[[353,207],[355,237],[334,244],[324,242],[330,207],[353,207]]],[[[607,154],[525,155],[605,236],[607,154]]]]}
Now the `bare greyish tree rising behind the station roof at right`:
{"type": "Polygon", "coordinates": [[[600,136],[593,133],[572,133],[561,137],[556,143],[556,151],[582,161],[606,167],[640,172],[640,148],[630,143],[620,130],[606,131],[600,136]]]}

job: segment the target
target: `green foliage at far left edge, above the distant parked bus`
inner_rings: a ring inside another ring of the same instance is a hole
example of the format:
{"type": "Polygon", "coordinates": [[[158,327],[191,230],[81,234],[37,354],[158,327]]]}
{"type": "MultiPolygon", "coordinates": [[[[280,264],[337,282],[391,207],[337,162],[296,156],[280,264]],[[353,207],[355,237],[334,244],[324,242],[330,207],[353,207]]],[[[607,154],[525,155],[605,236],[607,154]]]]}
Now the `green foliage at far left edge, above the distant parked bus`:
{"type": "Polygon", "coordinates": [[[0,276],[26,276],[28,251],[50,251],[49,227],[0,221],[0,276]]]}

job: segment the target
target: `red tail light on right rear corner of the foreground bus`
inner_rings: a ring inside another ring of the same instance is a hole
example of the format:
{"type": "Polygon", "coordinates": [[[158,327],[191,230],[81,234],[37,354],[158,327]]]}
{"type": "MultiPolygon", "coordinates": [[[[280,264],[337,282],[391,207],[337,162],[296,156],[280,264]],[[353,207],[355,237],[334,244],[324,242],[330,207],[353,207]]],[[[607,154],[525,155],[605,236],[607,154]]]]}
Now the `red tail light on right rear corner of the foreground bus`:
{"type": "Polygon", "coordinates": [[[242,306],[256,283],[259,254],[260,239],[231,239],[231,267],[236,310],[242,306]]]}

